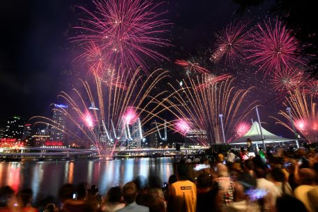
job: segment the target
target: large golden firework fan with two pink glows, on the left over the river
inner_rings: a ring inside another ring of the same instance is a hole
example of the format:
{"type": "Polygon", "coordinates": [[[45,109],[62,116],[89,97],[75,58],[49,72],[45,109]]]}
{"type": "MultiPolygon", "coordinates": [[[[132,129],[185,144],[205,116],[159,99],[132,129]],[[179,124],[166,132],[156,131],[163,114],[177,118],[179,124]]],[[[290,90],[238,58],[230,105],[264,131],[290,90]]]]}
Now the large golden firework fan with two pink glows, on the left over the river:
{"type": "MultiPolygon", "coordinates": [[[[156,70],[147,77],[135,72],[132,78],[118,78],[123,84],[127,84],[126,89],[121,89],[117,86],[107,86],[95,76],[94,84],[81,81],[82,87],[74,89],[73,97],[65,92],[59,95],[72,108],[72,110],[62,107],[56,109],[68,118],[70,124],[67,128],[43,116],[35,116],[32,119],[36,123],[45,123],[57,128],[82,146],[96,146],[101,156],[111,157],[118,142],[129,140],[129,144],[132,145],[140,139],[140,137],[131,137],[137,133],[129,131],[132,129],[130,126],[132,123],[140,121],[139,126],[142,127],[153,117],[164,121],[158,116],[162,110],[155,103],[156,98],[162,98],[163,92],[154,97],[151,96],[151,92],[167,77],[165,70],[156,70]],[[80,137],[76,131],[82,136],[80,137]]],[[[146,136],[148,133],[150,130],[144,131],[142,135],[146,136]]]]}

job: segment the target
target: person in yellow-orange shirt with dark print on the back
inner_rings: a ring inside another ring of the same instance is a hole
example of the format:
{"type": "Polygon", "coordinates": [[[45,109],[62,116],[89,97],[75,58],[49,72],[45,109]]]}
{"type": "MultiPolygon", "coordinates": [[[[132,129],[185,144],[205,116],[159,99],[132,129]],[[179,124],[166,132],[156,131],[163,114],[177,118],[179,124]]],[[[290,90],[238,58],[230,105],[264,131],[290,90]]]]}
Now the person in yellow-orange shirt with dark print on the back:
{"type": "Polygon", "coordinates": [[[197,210],[197,186],[187,180],[187,167],[179,163],[178,181],[169,187],[167,211],[195,212],[197,210]]]}

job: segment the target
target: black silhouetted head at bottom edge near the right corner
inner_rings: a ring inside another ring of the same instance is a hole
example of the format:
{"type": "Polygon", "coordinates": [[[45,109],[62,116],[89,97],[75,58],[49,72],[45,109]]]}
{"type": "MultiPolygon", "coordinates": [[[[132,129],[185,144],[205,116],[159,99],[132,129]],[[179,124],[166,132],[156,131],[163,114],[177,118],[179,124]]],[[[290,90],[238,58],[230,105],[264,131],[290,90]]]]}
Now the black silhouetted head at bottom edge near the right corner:
{"type": "Polygon", "coordinates": [[[293,211],[293,212],[304,212],[307,211],[303,202],[292,197],[291,195],[282,195],[276,199],[276,211],[285,212],[285,211],[293,211]]]}

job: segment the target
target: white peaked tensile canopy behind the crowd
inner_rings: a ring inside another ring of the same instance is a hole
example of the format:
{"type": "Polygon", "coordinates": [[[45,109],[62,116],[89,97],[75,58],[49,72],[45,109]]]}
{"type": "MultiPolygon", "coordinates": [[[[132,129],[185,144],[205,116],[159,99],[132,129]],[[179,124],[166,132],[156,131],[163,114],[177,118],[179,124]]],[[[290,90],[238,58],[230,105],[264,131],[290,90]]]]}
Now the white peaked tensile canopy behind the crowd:
{"type": "MultiPolygon", "coordinates": [[[[280,137],[278,135],[274,135],[273,133],[265,130],[263,127],[262,127],[262,132],[263,132],[265,144],[276,143],[276,142],[292,142],[295,140],[295,139],[289,139],[285,137],[280,137]]],[[[250,127],[250,130],[248,130],[248,132],[246,132],[246,134],[243,135],[243,137],[235,139],[232,142],[229,142],[229,144],[243,144],[243,143],[245,144],[246,139],[248,138],[252,139],[253,144],[263,143],[263,139],[262,139],[260,128],[259,128],[259,123],[257,123],[257,121],[255,121],[252,124],[252,126],[250,127]]]]}

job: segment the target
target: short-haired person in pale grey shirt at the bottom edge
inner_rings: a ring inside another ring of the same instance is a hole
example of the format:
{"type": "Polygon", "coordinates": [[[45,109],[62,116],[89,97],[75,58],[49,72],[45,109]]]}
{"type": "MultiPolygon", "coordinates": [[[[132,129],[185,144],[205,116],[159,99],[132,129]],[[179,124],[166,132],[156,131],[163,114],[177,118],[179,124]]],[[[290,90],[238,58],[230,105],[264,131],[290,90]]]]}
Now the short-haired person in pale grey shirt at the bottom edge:
{"type": "Polygon", "coordinates": [[[148,212],[149,208],[146,206],[141,206],[136,203],[137,198],[137,186],[133,182],[128,182],[123,185],[123,199],[126,202],[126,206],[120,209],[119,212],[135,211],[135,212],[148,212]]]}

